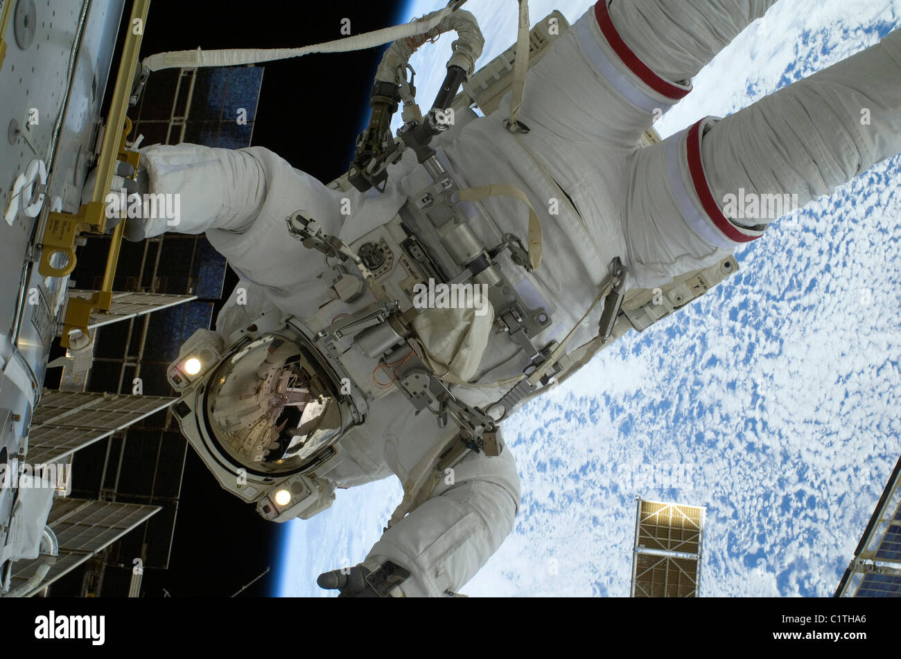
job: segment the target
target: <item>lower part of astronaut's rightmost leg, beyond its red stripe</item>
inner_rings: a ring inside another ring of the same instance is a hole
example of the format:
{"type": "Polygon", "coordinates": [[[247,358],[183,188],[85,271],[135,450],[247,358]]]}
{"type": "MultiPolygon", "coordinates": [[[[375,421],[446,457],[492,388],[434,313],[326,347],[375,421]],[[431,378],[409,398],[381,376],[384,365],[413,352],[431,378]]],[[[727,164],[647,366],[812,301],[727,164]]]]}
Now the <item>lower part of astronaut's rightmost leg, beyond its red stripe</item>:
{"type": "Polygon", "coordinates": [[[901,153],[901,30],[710,123],[701,140],[704,172],[714,200],[734,223],[778,219],[793,209],[780,213],[770,202],[785,194],[797,207],[832,194],[901,153]],[[759,209],[749,206],[751,217],[742,217],[737,200],[749,194],[759,209]]]}

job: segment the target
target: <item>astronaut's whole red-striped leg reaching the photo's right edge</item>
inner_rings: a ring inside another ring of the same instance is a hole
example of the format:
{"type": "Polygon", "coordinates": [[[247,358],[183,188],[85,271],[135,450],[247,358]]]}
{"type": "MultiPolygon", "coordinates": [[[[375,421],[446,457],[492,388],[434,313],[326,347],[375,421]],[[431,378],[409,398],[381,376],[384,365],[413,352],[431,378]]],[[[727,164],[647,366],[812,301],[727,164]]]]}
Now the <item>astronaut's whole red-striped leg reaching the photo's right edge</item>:
{"type": "Polygon", "coordinates": [[[710,265],[899,152],[896,31],[739,113],[635,152],[623,212],[630,270],[651,287],[710,265]]]}

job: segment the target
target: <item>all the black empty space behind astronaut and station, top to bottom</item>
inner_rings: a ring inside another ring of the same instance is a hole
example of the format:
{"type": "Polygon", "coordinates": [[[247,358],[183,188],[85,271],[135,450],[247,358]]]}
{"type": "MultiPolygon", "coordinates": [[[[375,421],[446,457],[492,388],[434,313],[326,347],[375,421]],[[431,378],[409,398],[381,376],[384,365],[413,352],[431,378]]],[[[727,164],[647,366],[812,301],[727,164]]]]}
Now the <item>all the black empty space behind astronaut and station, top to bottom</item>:
{"type": "MultiPolygon", "coordinates": [[[[126,5],[123,23],[130,14],[130,5],[126,5]]],[[[368,32],[402,20],[403,5],[401,2],[314,4],[304,0],[230,5],[206,0],[190,3],[154,0],[141,58],[198,46],[205,50],[280,48],[332,41],[344,36],[341,19],[350,19],[352,34],[368,32]]],[[[325,183],[343,174],[352,157],[357,134],[369,119],[369,88],[384,48],[310,55],[261,65],[265,73],[252,145],[272,149],[294,167],[325,183]]],[[[118,57],[117,52],[115,62],[118,57]]],[[[108,92],[112,91],[112,85],[111,79],[108,92]]],[[[224,297],[236,282],[237,277],[229,268],[224,297]]],[[[220,306],[221,302],[215,305],[214,314],[220,306]]],[[[54,386],[50,377],[47,384],[54,386]]],[[[98,455],[94,458],[102,462],[105,449],[96,448],[98,455]]],[[[268,575],[241,596],[270,595],[277,586],[283,529],[259,518],[253,506],[225,492],[193,449],[188,448],[169,569],[145,570],[142,595],[159,597],[165,589],[172,597],[228,596],[267,565],[271,566],[268,575]]],[[[159,538],[159,542],[166,539],[159,538]]],[[[129,571],[122,568],[114,573],[120,571],[127,579],[129,571]]],[[[50,594],[77,594],[81,579],[82,571],[73,571],[54,584],[50,594]]],[[[315,575],[311,575],[311,580],[314,579],[315,575]]],[[[105,580],[111,585],[121,581],[105,580]]],[[[117,584],[103,594],[124,594],[119,590],[117,584]]]]}

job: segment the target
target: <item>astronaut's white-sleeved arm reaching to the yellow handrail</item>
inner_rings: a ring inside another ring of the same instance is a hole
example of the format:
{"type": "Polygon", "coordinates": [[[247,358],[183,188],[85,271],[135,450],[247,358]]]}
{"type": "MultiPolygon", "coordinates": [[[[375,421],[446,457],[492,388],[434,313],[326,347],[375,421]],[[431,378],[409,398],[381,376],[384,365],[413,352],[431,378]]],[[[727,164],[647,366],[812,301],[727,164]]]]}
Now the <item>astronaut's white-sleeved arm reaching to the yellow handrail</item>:
{"type": "Polygon", "coordinates": [[[310,252],[290,238],[285,222],[303,210],[325,232],[341,230],[338,193],[314,176],[262,147],[155,145],[141,149],[141,155],[150,194],[172,195],[177,203],[170,206],[179,211],[177,221],[143,218],[148,237],[205,233],[241,278],[281,291],[303,288],[321,272],[299,266],[310,252]]]}

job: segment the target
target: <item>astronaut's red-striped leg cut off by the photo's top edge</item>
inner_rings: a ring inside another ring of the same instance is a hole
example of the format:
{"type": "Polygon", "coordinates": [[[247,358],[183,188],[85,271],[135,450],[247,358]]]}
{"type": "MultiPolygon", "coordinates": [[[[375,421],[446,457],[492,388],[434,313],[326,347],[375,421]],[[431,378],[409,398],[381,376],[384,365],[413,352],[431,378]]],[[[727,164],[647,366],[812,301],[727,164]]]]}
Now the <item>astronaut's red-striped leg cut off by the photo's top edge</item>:
{"type": "Polygon", "coordinates": [[[598,0],[529,70],[521,118],[564,140],[633,149],[775,2],[598,0]]]}

